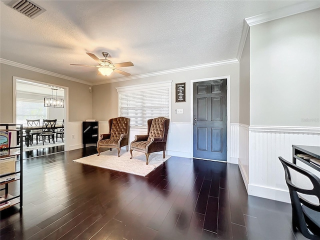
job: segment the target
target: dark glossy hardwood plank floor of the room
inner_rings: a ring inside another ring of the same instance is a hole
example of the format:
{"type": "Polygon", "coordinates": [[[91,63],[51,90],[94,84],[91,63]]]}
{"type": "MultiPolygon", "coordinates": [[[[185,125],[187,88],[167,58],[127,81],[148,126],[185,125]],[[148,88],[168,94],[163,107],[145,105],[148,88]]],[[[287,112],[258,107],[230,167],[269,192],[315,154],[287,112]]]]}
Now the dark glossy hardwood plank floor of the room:
{"type": "Polygon", "coordinates": [[[94,153],[25,153],[23,209],[0,212],[0,239],[304,239],[290,204],[248,196],[235,164],[172,156],[141,177],[72,162],[94,153]]]}

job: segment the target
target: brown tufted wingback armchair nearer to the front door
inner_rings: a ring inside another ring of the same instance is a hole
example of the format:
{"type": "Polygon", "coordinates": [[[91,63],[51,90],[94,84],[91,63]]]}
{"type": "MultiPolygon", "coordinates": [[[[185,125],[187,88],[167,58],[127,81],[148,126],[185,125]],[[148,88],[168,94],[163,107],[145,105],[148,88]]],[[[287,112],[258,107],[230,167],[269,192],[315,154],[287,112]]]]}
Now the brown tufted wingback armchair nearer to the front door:
{"type": "Polygon", "coordinates": [[[130,145],[130,154],[132,151],[141,151],[145,153],[146,164],[151,152],[163,151],[165,157],[166,137],[169,129],[169,119],[166,117],[156,117],[147,120],[148,131],[146,135],[135,135],[135,139],[130,145]]]}

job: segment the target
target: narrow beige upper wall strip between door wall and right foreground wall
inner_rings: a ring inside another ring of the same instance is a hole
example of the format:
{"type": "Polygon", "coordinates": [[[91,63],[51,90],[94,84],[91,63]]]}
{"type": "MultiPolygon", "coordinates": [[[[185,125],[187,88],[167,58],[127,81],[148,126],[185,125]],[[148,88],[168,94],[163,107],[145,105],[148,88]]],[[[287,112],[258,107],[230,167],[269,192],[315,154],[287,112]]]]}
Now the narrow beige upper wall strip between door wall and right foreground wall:
{"type": "Polygon", "coordinates": [[[250,30],[244,43],[239,71],[239,123],[250,125],[250,30]]]}

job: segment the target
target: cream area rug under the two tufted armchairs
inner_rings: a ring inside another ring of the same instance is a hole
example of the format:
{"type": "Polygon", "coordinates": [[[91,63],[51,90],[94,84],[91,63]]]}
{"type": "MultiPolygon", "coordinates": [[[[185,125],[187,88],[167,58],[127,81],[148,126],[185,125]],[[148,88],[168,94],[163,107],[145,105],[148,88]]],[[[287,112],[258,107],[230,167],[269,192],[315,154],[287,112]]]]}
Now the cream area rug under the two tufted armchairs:
{"type": "Polygon", "coordinates": [[[99,156],[94,154],[73,161],[145,176],[170,157],[167,155],[165,158],[162,158],[162,151],[161,154],[151,153],[149,155],[149,164],[147,165],[145,164],[146,158],[143,152],[132,151],[132,155],[133,157],[130,159],[130,152],[121,149],[120,157],[118,157],[117,150],[112,149],[112,151],[106,150],[101,152],[99,156]]]}

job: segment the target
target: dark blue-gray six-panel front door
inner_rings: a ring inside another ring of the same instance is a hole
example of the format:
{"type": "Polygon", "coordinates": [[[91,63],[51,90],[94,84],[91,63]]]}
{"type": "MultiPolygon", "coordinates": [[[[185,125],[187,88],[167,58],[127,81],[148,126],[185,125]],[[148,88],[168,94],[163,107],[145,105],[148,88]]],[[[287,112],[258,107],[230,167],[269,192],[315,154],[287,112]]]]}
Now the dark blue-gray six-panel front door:
{"type": "Polygon", "coordinates": [[[193,83],[193,157],[226,161],[226,79],[193,83]]]}

